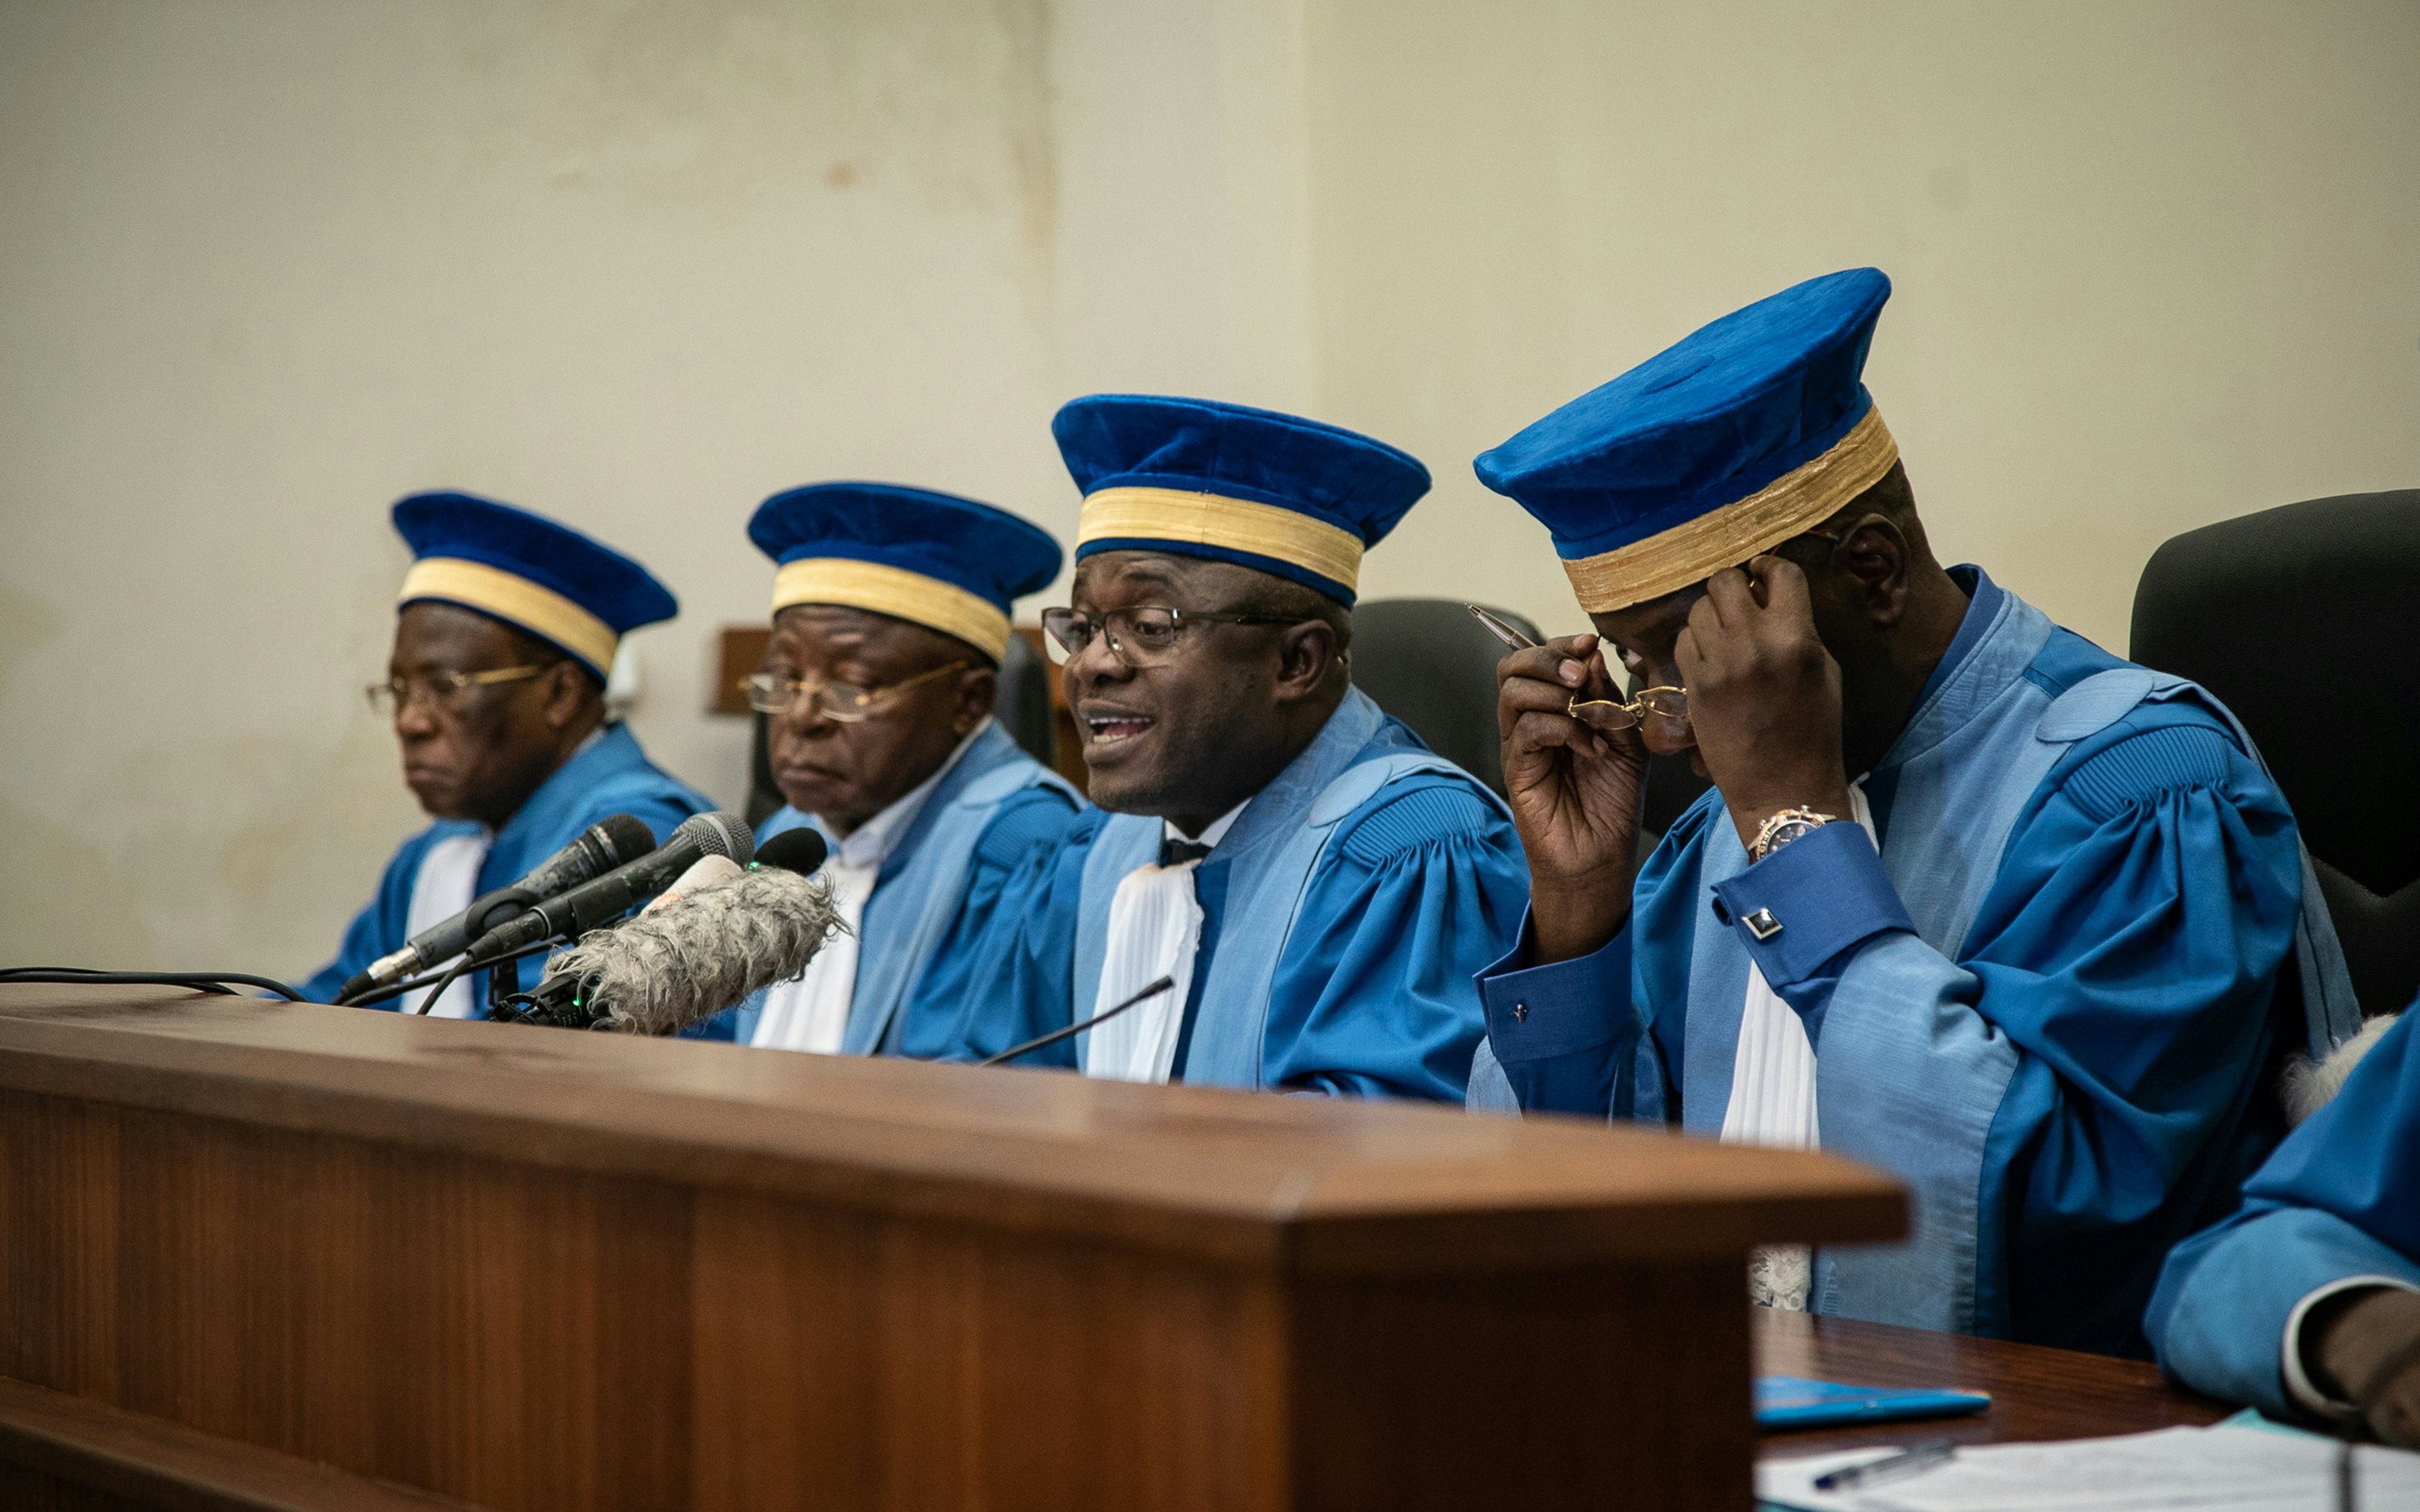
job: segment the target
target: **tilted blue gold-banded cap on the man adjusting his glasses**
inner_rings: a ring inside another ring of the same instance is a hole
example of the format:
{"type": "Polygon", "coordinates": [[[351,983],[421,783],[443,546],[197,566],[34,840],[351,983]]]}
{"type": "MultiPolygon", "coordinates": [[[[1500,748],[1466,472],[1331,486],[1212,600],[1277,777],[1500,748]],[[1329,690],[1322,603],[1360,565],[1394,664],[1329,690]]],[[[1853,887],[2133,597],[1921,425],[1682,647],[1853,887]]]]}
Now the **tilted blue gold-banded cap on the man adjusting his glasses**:
{"type": "Polygon", "coordinates": [[[1888,298],[1849,269],[1757,300],[1481,452],[1479,481],[1546,525],[1590,610],[1704,581],[1897,460],[1861,382],[1888,298]]]}

